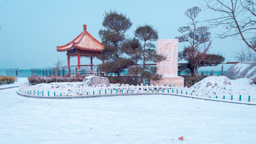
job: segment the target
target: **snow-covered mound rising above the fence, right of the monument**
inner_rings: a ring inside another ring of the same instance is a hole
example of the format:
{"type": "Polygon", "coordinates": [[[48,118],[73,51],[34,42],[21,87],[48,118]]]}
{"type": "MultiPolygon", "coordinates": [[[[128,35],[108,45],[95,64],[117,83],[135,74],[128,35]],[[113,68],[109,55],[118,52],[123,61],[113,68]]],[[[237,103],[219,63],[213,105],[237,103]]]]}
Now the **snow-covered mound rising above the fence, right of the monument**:
{"type": "Polygon", "coordinates": [[[251,79],[240,78],[240,79],[228,79],[225,76],[213,76],[206,77],[200,82],[193,84],[195,89],[203,88],[228,88],[228,87],[255,87],[254,82],[251,79]]]}

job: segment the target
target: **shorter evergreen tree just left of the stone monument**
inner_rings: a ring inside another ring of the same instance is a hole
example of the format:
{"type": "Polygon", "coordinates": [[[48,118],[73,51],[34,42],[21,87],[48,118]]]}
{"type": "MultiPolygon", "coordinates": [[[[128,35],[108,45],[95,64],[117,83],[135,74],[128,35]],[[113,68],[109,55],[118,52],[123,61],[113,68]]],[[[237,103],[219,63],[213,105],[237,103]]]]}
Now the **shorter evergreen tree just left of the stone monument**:
{"type": "Polygon", "coordinates": [[[136,64],[134,67],[129,68],[129,74],[136,75],[135,82],[137,82],[137,84],[138,75],[140,75],[140,83],[143,83],[144,78],[148,80],[161,79],[161,76],[156,74],[155,66],[146,65],[152,62],[160,62],[166,58],[164,55],[157,55],[156,47],[151,43],[158,39],[158,32],[153,26],[145,24],[144,26],[139,26],[134,32],[134,35],[135,38],[128,40],[125,45],[126,47],[124,47],[124,49],[130,51],[127,55],[130,55],[136,64]]]}

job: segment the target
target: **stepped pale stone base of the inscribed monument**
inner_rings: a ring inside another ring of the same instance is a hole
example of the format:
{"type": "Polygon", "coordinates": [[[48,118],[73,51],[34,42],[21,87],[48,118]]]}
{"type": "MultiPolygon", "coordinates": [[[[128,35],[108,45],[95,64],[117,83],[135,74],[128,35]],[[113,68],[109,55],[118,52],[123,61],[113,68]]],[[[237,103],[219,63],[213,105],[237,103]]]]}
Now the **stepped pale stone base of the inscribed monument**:
{"type": "Polygon", "coordinates": [[[166,84],[173,84],[174,86],[178,87],[184,87],[184,78],[183,77],[178,77],[178,76],[164,76],[162,77],[161,80],[159,81],[150,81],[150,84],[153,84],[154,86],[158,84],[161,86],[162,84],[165,86],[166,84]]]}

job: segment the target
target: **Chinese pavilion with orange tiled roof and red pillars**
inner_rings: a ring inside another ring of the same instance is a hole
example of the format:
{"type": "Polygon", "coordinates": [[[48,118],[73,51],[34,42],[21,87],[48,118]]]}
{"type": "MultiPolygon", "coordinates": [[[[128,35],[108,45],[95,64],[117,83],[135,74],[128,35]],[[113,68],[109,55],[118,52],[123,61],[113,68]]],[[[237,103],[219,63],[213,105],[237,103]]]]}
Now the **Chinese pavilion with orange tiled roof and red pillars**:
{"type": "Polygon", "coordinates": [[[100,55],[101,50],[104,48],[102,43],[96,40],[86,30],[86,25],[83,25],[84,31],[78,35],[77,38],[72,40],[67,45],[57,46],[58,52],[67,51],[68,66],[70,66],[70,57],[78,57],[78,69],[80,69],[80,57],[90,57],[90,65],[92,70],[93,57],[100,55]]]}

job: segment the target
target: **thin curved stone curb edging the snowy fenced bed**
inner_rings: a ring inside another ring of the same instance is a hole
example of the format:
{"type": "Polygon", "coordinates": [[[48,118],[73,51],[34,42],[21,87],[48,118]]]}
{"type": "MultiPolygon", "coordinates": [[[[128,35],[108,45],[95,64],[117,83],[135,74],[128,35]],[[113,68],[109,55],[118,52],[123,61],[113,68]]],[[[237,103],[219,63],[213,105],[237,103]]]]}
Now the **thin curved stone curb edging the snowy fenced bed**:
{"type": "Polygon", "coordinates": [[[206,101],[218,101],[218,102],[225,102],[225,103],[230,103],[230,104],[246,104],[246,105],[252,105],[256,106],[256,104],[249,103],[246,101],[230,101],[230,100],[221,100],[221,99],[210,99],[210,98],[203,98],[200,96],[188,96],[188,95],[181,95],[181,94],[161,94],[161,93],[134,93],[134,94],[102,94],[102,95],[82,95],[82,96],[33,96],[31,94],[23,94],[21,92],[17,91],[17,94],[19,96],[24,96],[28,98],[36,98],[36,99],[83,99],[83,98],[96,98],[96,97],[110,97],[110,96],[137,96],[137,95],[169,95],[169,96],[181,96],[181,97],[186,97],[186,98],[191,98],[191,99],[203,99],[206,101]]]}

